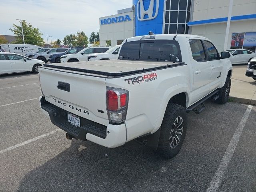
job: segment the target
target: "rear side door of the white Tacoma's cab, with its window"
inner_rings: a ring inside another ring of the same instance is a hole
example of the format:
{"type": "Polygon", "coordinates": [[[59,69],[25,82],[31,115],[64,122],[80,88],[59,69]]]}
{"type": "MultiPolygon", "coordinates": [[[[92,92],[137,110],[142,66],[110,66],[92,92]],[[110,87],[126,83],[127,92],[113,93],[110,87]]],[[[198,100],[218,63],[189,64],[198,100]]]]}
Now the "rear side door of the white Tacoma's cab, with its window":
{"type": "Polygon", "coordinates": [[[210,91],[211,66],[207,61],[206,52],[202,40],[188,39],[190,45],[190,61],[193,68],[192,99],[194,103],[210,91]]]}

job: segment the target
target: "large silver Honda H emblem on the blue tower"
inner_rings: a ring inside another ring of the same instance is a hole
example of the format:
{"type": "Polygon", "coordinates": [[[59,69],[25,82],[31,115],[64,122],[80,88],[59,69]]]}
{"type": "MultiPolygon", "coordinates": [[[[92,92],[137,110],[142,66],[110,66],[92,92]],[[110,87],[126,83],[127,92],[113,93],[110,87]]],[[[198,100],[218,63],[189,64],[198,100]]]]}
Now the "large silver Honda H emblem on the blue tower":
{"type": "Polygon", "coordinates": [[[159,8],[159,0],[150,0],[148,10],[145,10],[145,8],[144,8],[143,0],[138,0],[138,3],[137,3],[138,20],[145,21],[145,20],[151,20],[151,19],[156,18],[157,14],[158,14],[158,8],[159,8]],[[155,1],[156,1],[156,12],[153,15],[155,1]],[[140,12],[139,12],[139,6],[140,6],[140,12]],[[145,15],[148,15],[148,18],[144,18],[145,15]]]}

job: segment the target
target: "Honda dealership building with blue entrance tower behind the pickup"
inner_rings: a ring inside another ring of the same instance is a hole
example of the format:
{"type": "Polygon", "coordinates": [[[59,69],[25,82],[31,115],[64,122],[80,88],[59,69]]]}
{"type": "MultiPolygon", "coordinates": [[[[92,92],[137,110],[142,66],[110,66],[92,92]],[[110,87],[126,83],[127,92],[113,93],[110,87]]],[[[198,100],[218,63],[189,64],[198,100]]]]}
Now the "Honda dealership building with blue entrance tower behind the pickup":
{"type": "Polygon", "coordinates": [[[227,49],[256,52],[256,0],[132,0],[131,8],[99,19],[100,46],[152,31],[204,36],[222,51],[229,13],[227,49]]]}

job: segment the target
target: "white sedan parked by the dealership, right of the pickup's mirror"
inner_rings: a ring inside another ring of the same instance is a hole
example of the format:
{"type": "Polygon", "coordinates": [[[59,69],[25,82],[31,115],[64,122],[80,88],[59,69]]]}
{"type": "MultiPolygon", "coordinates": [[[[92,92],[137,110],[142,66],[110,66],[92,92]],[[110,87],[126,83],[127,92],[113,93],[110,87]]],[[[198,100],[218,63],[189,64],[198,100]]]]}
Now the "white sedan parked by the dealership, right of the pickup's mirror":
{"type": "Polygon", "coordinates": [[[256,57],[256,53],[246,49],[229,49],[231,64],[247,64],[252,58],[256,57]]]}

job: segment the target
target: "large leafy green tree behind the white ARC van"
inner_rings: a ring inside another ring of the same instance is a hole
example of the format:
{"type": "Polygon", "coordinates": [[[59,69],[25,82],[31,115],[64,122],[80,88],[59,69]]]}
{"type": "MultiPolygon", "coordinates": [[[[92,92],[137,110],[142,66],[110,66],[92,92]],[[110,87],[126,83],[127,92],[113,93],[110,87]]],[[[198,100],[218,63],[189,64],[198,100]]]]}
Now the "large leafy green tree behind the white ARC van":
{"type": "MultiPolygon", "coordinates": [[[[25,44],[32,44],[42,46],[44,44],[44,39],[41,37],[43,34],[39,31],[38,28],[34,28],[31,24],[28,24],[26,21],[22,20],[22,27],[24,32],[24,40],[25,44]]],[[[10,29],[14,35],[16,40],[13,43],[23,44],[22,38],[22,28],[21,26],[12,25],[13,28],[10,29]]]]}

